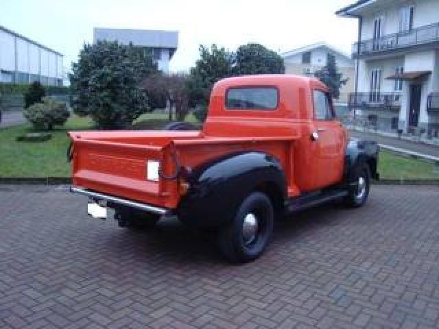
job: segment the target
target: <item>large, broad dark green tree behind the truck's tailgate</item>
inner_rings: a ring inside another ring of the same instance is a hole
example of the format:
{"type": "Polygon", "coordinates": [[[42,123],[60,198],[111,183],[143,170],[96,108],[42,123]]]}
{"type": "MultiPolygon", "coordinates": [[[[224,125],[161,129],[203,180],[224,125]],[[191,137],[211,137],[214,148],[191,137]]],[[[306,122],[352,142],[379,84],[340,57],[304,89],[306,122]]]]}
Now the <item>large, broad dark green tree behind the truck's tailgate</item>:
{"type": "Polygon", "coordinates": [[[157,71],[149,53],[132,45],[84,45],[70,75],[72,107],[99,127],[123,127],[150,110],[141,84],[157,71]]]}

